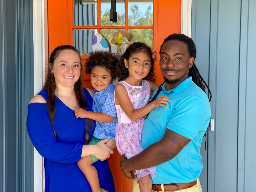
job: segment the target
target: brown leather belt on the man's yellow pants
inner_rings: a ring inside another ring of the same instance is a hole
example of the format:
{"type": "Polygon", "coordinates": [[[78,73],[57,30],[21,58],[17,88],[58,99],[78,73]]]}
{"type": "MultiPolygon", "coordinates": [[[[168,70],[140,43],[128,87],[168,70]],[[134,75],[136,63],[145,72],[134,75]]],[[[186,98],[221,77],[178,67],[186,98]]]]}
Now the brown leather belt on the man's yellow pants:
{"type": "MultiPolygon", "coordinates": [[[[190,183],[170,183],[164,184],[164,191],[176,191],[178,189],[187,189],[193,187],[196,184],[196,180],[190,183]]],[[[153,184],[152,185],[153,191],[162,191],[161,185],[153,184]]]]}

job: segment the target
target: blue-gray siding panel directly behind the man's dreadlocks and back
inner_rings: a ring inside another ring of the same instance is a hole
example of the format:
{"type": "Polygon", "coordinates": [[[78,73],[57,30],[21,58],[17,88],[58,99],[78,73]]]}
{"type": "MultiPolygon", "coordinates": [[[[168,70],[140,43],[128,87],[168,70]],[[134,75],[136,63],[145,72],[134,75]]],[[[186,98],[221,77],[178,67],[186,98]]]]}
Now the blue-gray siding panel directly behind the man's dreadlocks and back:
{"type": "MultiPolygon", "coordinates": [[[[211,0],[193,1],[191,38],[194,40],[197,48],[195,64],[207,84],[209,84],[210,13],[211,0]],[[199,12],[197,10],[202,11],[199,12]]],[[[207,140],[209,138],[208,134],[209,133],[207,133],[207,140]]],[[[202,189],[207,189],[208,148],[205,150],[205,137],[201,144],[200,153],[202,155],[202,163],[204,165],[200,176],[200,184],[202,189]]]]}

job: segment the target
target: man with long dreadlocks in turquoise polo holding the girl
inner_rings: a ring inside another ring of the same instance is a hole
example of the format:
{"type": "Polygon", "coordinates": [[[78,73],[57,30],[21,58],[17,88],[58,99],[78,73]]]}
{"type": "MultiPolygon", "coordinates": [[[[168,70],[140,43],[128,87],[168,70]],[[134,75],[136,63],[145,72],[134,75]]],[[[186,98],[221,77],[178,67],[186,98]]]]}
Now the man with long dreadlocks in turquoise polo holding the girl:
{"type": "MultiPolygon", "coordinates": [[[[133,170],[157,167],[152,191],[183,192],[191,188],[201,192],[200,146],[211,112],[205,94],[208,86],[194,64],[195,58],[196,47],[191,38],[172,34],[164,40],[159,62],[165,83],[152,93],[151,101],[166,95],[170,102],[148,114],[142,132],[144,151],[129,160],[121,157],[121,169],[128,178],[132,178],[133,170]]],[[[136,191],[135,184],[133,192],[136,191]]]]}

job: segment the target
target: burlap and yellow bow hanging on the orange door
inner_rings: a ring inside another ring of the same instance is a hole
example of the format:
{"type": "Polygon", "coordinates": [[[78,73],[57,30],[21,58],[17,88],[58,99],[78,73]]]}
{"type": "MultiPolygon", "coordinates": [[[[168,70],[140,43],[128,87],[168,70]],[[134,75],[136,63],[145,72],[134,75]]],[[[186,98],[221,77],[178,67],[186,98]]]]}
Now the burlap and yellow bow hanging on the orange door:
{"type": "Polygon", "coordinates": [[[133,34],[128,31],[120,30],[114,33],[111,43],[117,45],[116,55],[121,57],[127,47],[131,44],[130,41],[133,38],[133,34]]]}

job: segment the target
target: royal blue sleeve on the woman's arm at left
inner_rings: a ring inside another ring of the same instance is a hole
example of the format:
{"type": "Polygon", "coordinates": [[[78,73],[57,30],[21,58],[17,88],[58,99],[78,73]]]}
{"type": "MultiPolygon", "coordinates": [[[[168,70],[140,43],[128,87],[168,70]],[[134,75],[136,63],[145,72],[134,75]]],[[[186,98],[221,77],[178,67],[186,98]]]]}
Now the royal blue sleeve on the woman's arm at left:
{"type": "Polygon", "coordinates": [[[81,143],[57,141],[44,103],[28,105],[27,130],[36,150],[44,158],[61,163],[73,163],[81,158],[81,143]]]}

